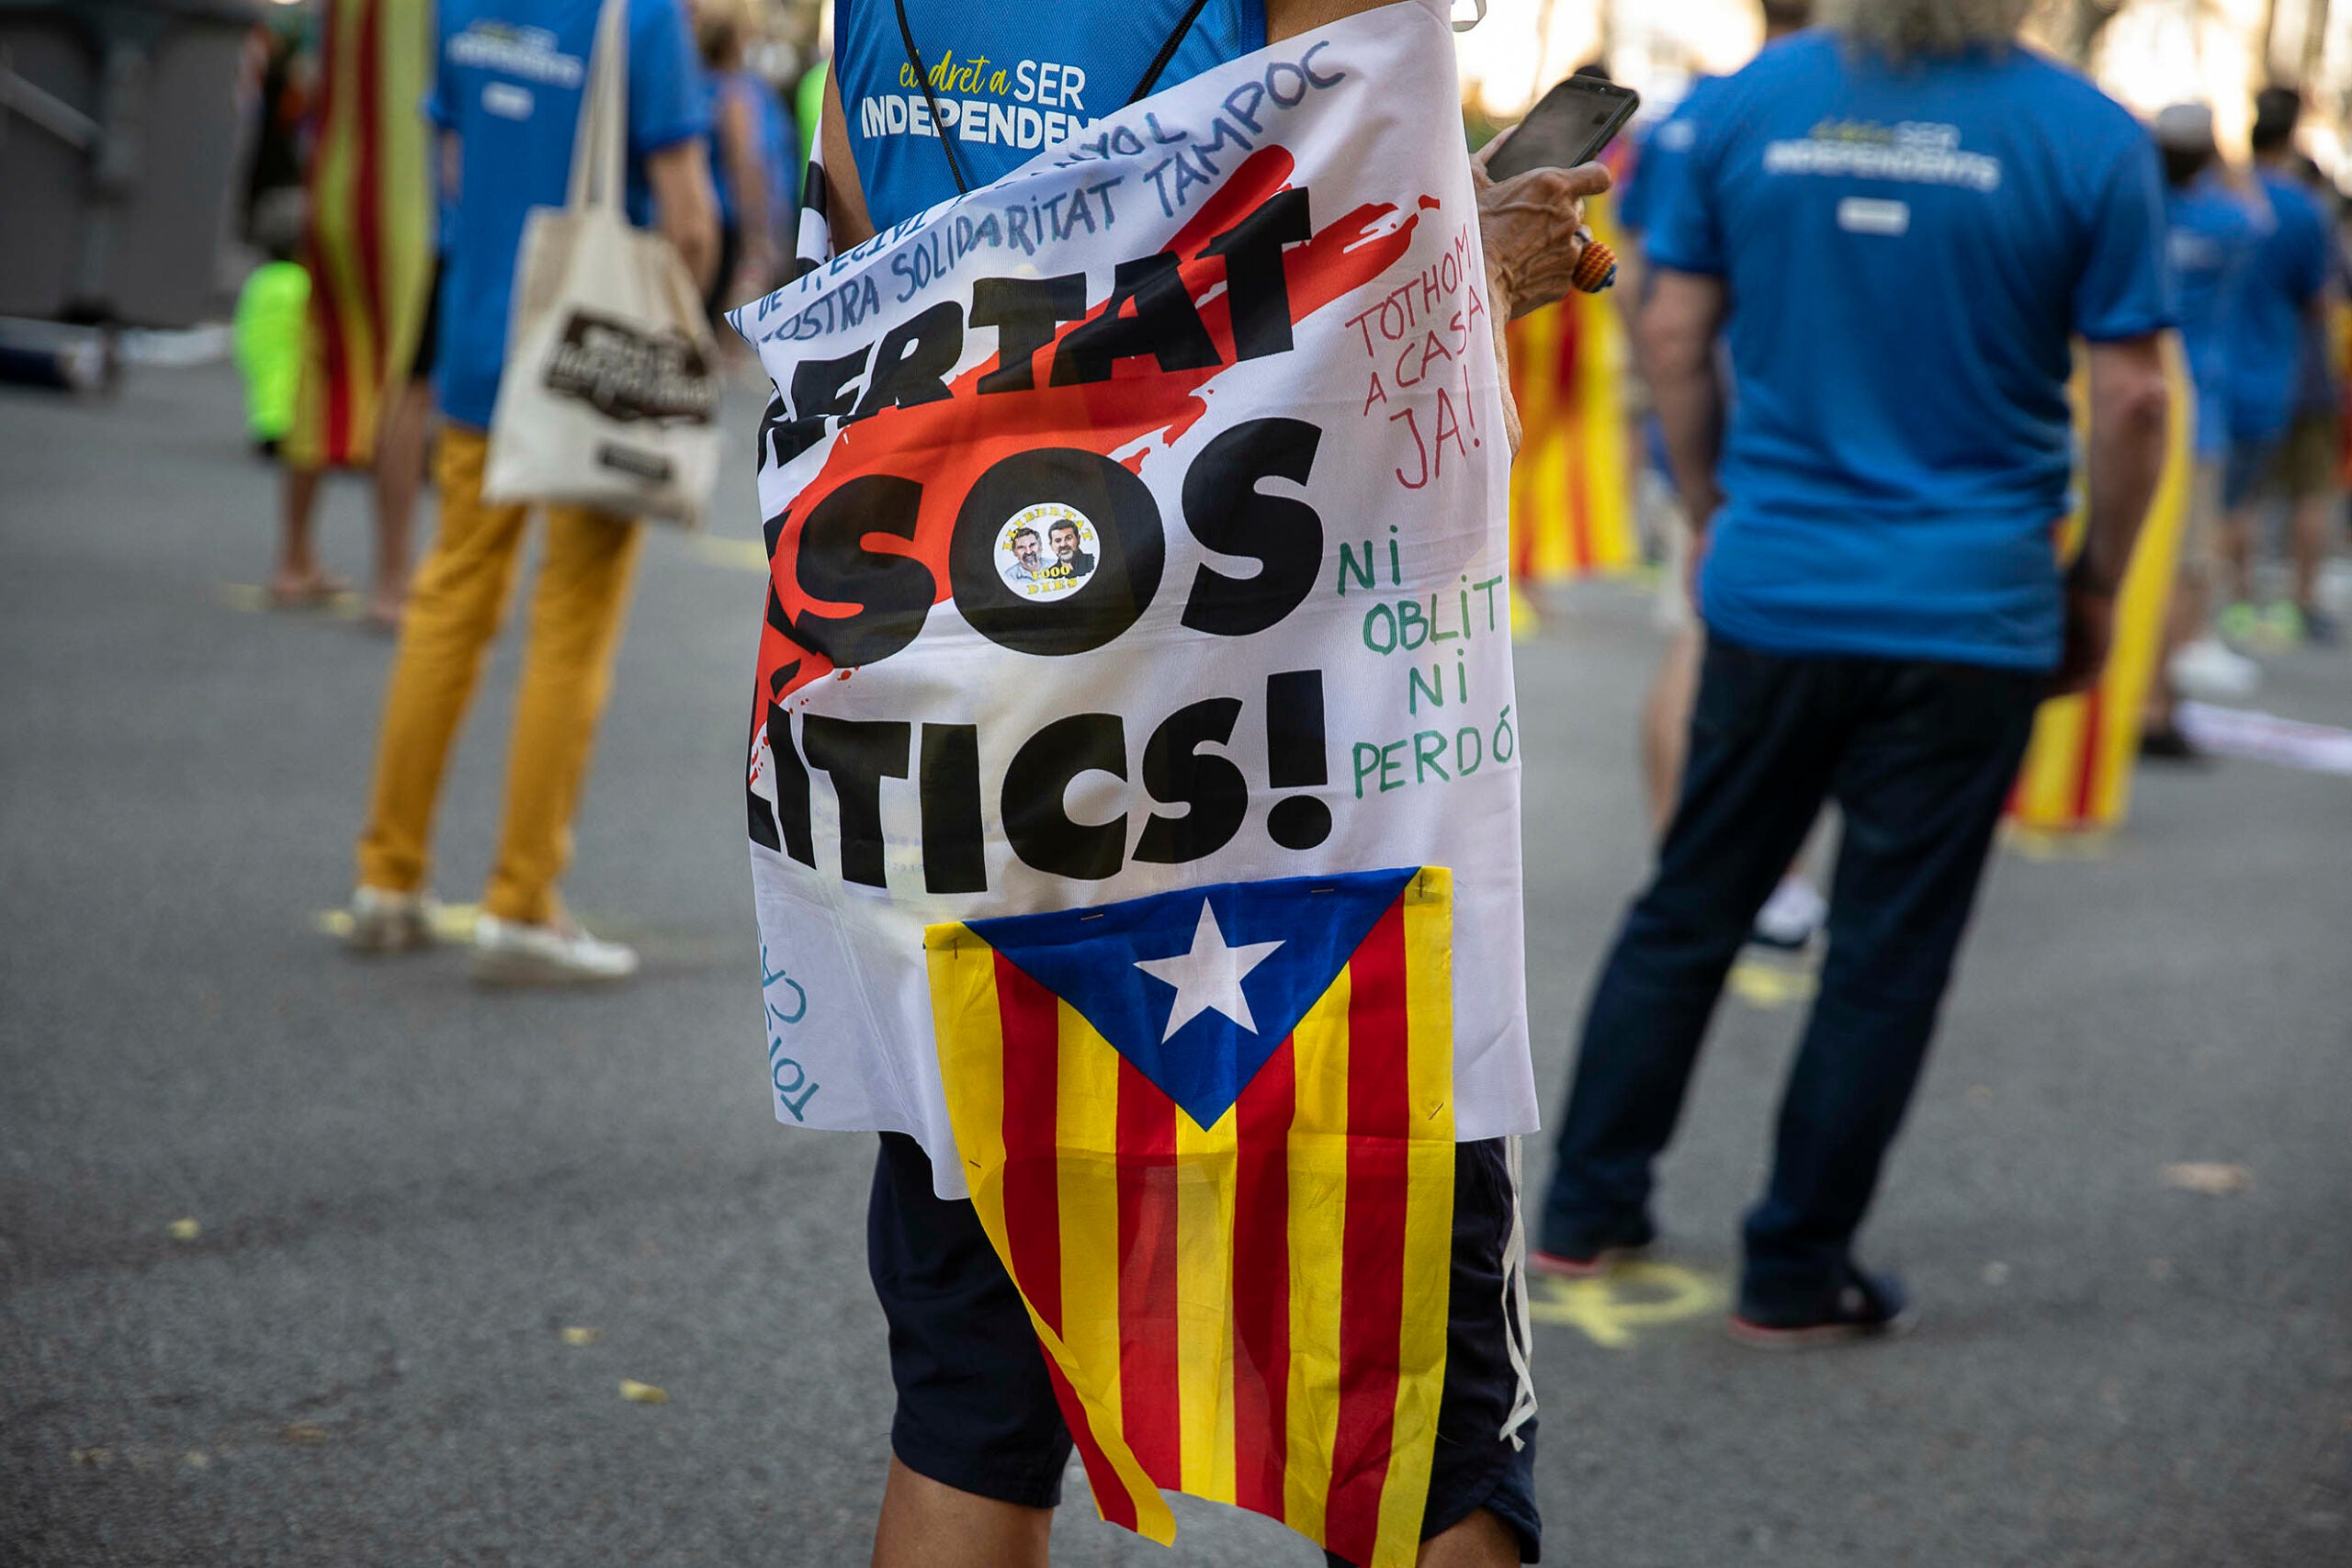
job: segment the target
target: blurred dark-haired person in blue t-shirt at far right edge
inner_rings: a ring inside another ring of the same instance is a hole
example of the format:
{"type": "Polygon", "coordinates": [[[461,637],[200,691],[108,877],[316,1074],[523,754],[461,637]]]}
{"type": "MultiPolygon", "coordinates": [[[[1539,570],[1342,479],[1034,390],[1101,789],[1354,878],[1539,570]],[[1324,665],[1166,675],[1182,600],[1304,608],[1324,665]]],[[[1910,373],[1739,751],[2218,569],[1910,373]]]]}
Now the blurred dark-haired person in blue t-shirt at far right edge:
{"type": "Polygon", "coordinates": [[[2230,477],[2220,529],[2232,642],[2336,642],[2319,604],[2319,567],[2336,515],[2336,386],[2328,369],[2331,235],[2319,172],[2296,153],[2303,94],[2265,87],[2253,101],[2253,179],[2270,202],[2230,322],[2230,477]],[[2286,508],[2288,599],[2260,609],[2253,581],[2267,501],[2286,508]],[[2265,637],[2267,632],[2267,637],[2265,637]]]}

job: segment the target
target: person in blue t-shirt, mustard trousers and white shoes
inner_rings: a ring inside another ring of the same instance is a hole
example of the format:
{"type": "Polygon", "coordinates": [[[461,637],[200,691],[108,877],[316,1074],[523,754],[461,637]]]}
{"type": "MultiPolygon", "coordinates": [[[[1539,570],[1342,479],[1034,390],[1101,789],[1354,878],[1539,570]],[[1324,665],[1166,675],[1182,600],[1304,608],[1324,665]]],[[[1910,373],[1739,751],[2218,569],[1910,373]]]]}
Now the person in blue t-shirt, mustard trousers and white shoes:
{"type": "MultiPolygon", "coordinates": [[[[717,256],[706,101],[680,0],[628,7],[628,212],[656,221],[708,280],[717,256]]],[[[383,693],[376,783],[360,835],[350,943],[397,952],[433,940],[426,893],[433,806],[482,651],[499,630],[524,505],[482,501],[489,414],[506,364],[515,254],[532,207],[562,207],[602,0],[442,0],[426,113],[442,132],[445,209],[435,397],[440,529],[416,571],[383,693]]],[[[619,980],[637,954],[600,943],[555,896],[572,809],[621,644],[637,524],[548,508],[546,557],[515,701],[499,858],[475,922],[475,976],[496,983],[619,980]]]]}

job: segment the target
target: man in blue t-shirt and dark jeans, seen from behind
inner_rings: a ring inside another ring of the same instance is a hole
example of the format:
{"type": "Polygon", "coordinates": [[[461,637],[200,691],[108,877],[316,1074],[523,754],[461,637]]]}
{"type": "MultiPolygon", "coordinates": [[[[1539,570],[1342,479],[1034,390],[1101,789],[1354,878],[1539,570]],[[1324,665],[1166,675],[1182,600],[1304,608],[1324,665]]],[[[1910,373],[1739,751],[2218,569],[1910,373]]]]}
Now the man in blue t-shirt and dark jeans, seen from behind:
{"type": "Polygon", "coordinates": [[[1541,1246],[1592,1272],[1651,1241],[1651,1168],[1724,973],[1835,799],[1830,947],[1745,1225],[1745,1342],[1903,1316],[1853,1234],[2034,705],[2105,663],[2164,461],[2154,150],[2016,42],[2023,5],[1978,14],[2004,9],[1952,45],[1940,0],[1823,0],[1830,26],[1710,92],[1649,233],[1644,364],[1700,531],[1708,654],[1675,820],[1585,1018],[1541,1246]],[[2077,336],[2091,520],[2060,574],[2077,336]]]}

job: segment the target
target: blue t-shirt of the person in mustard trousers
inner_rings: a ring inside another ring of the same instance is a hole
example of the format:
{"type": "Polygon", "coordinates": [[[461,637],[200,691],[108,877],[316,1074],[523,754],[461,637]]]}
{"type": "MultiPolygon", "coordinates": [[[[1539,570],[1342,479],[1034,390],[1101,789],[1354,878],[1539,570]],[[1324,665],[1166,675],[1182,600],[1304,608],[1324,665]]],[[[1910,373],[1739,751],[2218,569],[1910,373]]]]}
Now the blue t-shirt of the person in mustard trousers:
{"type": "MultiPolygon", "coordinates": [[[[435,400],[489,425],[506,362],[515,252],[532,207],[562,207],[588,89],[597,0],[440,0],[440,71],[426,115],[459,136],[442,235],[435,400]]],[[[642,160],[701,136],[701,59],[680,0],[628,0],[628,214],[652,219],[642,160]]]]}

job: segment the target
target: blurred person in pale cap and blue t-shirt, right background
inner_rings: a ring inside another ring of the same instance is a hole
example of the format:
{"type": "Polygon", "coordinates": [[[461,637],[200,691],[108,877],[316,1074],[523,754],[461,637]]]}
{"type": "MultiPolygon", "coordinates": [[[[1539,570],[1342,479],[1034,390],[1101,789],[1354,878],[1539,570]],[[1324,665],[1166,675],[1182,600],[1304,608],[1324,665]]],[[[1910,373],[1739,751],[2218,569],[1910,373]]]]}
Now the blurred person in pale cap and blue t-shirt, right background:
{"type": "Polygon", "coordinates": [[[2180,348],[2197,393],[2194,461],[2187,515],[2180,531],[2180,564],[2164,628],[2164,658],[2147,686],[2140,722],[2140,755],[2185,762],[2197,755],[2176,717],[2180,693],[2246,696],[2260,668],[2223,646],[2213,635],[2213,559],[2230,470],[2230,360],[2237,353],[2237,292],[2244,287],[2267,219],[2234,188],[2213,143],[2213,110],[2173,103],[2157,113],[2157,148],[2164,155],[2164,259],[2180,303],[2180,348]]]}

